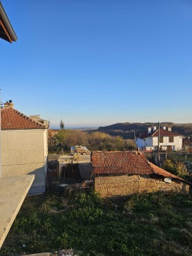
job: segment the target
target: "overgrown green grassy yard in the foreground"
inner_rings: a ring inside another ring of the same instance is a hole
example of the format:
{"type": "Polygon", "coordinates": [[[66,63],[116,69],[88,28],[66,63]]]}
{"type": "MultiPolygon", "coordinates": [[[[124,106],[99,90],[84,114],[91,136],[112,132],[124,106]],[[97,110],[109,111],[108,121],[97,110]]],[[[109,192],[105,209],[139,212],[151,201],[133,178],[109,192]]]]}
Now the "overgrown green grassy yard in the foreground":
{"type": "Polygon", "coordinates": [[[182,194],[28,197],[0,255],[73,248],[82,255],[192,255],[192,200],[182,194]]]}

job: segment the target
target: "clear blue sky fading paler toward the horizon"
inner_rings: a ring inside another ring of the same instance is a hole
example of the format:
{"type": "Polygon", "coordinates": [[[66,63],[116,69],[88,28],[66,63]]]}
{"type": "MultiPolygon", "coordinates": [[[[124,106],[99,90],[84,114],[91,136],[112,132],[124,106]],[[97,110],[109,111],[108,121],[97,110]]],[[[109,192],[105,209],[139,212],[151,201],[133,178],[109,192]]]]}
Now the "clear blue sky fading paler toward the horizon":
{"type": "Polygon", "coordinates": [[[1,102],[51,128],[192,123],[191,0],[1,3],[1,102]]]}

